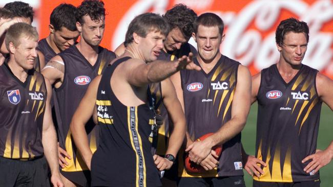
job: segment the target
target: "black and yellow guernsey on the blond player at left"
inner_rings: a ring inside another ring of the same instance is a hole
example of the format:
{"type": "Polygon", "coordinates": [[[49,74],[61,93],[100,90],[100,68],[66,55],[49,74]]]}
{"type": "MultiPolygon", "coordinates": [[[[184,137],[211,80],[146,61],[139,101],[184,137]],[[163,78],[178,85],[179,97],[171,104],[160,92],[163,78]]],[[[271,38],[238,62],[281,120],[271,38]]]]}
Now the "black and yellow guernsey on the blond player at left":
{"type": "Polygon", "coordinates": [[[25,82],[0,66],[0,156],[30,160],[43,156],[41,143],[47,91],[43,75],[31,69],[25,82]]]}

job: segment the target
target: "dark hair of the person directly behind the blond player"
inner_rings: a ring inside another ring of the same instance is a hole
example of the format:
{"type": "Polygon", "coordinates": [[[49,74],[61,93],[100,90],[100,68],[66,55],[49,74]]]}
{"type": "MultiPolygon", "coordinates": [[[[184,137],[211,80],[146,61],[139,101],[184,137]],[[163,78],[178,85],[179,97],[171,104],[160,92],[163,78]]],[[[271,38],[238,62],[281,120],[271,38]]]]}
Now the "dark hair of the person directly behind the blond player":
{"type": "Polygon", "coordinates": [[[13,17],[27,17],[33,21],[34,11],[32,7],[24,2],[11,2],[4,6],[5,9],[9,10],[13,17]]]}

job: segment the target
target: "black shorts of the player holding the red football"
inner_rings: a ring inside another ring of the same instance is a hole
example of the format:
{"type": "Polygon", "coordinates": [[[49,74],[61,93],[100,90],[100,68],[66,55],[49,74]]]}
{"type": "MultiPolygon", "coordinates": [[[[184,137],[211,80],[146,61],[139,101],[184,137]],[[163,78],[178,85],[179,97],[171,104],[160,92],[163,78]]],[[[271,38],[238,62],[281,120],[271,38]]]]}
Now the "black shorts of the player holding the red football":
{"type": "Polygon", "coordinates": [[[245,181],[243,176],[231,176],[231,177],[181,177],[177,181],[178,187],[207,187],[207,186],[235,186],[245,187],[245,181]]]}

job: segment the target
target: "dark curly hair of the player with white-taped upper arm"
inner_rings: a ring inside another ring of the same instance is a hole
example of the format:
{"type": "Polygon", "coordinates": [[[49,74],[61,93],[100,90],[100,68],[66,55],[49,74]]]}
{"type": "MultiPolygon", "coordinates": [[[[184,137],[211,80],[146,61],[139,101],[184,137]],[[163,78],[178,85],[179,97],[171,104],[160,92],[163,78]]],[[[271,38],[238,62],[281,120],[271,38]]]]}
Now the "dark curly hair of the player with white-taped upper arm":
{"type": "Polygon", "coordinates": [[[105,17],[104,3],[99,0],[85,0],[77,7],[76,20],[83,24],[82,17],[89,15],[91,20],[99,21],[105,17]]]}

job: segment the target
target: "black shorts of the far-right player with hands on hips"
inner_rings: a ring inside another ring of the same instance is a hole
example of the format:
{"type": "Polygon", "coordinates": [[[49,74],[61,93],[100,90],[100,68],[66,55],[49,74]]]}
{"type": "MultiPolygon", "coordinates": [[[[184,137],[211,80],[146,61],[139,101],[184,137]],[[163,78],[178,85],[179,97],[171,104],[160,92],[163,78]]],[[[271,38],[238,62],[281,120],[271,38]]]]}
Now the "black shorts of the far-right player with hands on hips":
{"type": "Polygon", "coordinates": [[[254,187],[319,187],[320,179],[303,182],[261,182],[253,180],[254,187]]]}

